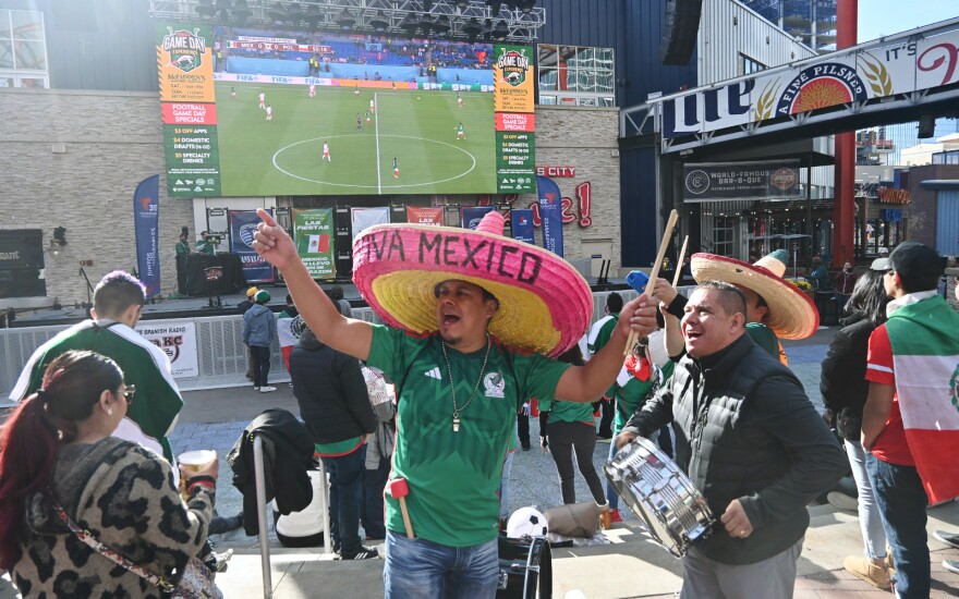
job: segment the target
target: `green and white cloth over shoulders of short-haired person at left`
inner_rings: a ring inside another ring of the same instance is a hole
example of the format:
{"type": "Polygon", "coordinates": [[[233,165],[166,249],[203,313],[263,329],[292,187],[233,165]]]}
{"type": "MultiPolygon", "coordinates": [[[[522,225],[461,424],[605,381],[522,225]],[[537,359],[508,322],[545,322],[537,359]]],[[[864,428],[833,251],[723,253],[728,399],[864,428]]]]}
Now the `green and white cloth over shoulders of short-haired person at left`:
{"type": "Polygon", "coordinates": [[[167,437],[177,424],[183,399],[173,381],[170,358],[126,325],[85,320],[61,331],[34,352],[10,399],[19,402],[39,389],[47,366],[70,350],[89,350],[113,358],[126,384],[136,387],[136,401],[113,437],[139,443],[174,464],[167,437]]]}

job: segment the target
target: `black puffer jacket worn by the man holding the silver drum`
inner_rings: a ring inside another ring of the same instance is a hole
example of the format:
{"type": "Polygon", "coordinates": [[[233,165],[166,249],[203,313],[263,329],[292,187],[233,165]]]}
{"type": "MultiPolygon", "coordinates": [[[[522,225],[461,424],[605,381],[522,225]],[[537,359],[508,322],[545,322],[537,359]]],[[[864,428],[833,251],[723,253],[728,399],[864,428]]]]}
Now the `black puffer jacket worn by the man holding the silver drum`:
{"type": "Polygon", "coordinates": [[[743,334],[672,377],[623,430],[650,435],[672,421],[676,462],[717,522],[700,548],[726,564],[772,558],[809,527],[805,505],[848,468],[846,454],[799,379],[743,334]],[[730,537],[719,517],[738,499],[753,533],[730,537]]]}

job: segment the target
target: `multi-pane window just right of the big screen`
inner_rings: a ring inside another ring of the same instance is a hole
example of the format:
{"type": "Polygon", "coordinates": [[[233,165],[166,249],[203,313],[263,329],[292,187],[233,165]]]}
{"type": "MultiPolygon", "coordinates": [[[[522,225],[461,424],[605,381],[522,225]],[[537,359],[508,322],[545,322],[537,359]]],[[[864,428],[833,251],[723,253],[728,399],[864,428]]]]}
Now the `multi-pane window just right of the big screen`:
{"type": "Polygon", "coordinates": [[[539,103],[616,106],[612,48],[538,47],[539,103]]]}

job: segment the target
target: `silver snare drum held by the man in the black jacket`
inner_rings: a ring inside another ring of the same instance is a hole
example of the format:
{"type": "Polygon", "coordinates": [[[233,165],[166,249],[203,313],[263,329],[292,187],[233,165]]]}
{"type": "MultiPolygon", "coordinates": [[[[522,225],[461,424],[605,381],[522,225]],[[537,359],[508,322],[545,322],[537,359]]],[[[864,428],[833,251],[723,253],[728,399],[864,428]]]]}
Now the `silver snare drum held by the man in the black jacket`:
{"type": "Polygon", "coordinates": [[[623,445],[604,470],[653,540],[677,558],[709,535],[715,518],[705,498],[648,439],[623,445]]]}

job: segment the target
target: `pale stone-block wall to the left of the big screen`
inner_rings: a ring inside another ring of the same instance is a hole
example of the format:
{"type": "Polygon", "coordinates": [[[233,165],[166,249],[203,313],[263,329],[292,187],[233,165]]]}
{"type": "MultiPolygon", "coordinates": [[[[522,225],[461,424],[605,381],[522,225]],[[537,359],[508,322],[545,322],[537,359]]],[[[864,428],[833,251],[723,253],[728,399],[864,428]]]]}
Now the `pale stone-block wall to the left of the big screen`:
{"type": "Polygon", "coordinates": [[[133,191],[160,173],[160,273],[174,291],[174,246],[192,222],[190,200],[166,196],[163,137],[156,94],[0,89],[0,230],[66,228],[59,258],[46,255],[47,295],[86,301],[80,261],[96,282],[136,267],[133,191]],[[53,154],[53,144],[65,152],[53,154]]]}

